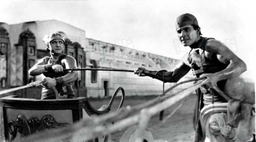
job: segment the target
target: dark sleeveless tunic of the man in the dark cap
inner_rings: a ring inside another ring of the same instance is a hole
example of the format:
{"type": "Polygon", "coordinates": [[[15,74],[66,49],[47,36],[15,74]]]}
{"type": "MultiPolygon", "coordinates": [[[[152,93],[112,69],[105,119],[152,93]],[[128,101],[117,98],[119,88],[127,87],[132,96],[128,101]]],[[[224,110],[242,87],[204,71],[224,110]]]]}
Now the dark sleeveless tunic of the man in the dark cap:
{"type": "MultiPolygon", "coordinates": [[[[198,48],[191,49],[188,54],[187,61],[191,67],[193,75],[195,77],[200,77],[202,74],[216,73],[228,65],[221,63],[217,59],[217,55],[214,55],[213,59],[208,59],[205,55],[205,44],[206,41],[213,38],[201,37],[197,43],[198,48]]],[[[227,80],[222,80],[217,82],[218,87],[221,91],[224,91],[225,82],[227,80]]],[[[195,130],[194,141],[203,141],[203,132],[201,127],[201,122],[199,120],[201,109],[208,104],[213,102],[227,102],[223,97],[218,95],[214,90],[208,90],[207,87],[201,86],[197,91],[197,100],[195,102],[194,114],[193,114],[193,128],[195,130]]]]}

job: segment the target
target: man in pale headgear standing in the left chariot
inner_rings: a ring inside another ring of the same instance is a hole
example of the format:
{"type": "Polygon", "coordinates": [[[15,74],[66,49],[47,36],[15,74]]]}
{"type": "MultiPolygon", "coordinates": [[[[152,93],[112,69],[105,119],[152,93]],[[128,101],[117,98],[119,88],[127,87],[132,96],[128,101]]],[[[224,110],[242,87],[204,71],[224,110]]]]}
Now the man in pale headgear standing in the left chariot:
{"type": "Polygon", "coordinates": [[[41,99],[56,99],[58,95],[67,95],[67,98],[74,98],[72,82],[78,79],[77,71],[64,71],[64,68],[77,68],[77,61],[73,57],[64,54],[65,40],[59,32],[44,37],[47,50],[51,57],[44,57],[28,70],[29,75],[37,76],[43,74],[41,99]]]}

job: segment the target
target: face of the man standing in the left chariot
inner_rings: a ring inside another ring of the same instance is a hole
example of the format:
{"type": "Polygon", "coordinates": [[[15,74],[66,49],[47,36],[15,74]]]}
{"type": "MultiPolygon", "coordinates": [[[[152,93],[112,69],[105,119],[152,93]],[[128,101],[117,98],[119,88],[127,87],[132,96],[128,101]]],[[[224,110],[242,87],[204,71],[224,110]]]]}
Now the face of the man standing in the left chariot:
{"type": "Polygon", "coordinates": [[[59,39],[52,40],[50,42],[49,49],[54,54],[61,54],[63,52],[63,49],[64,49],[63,40],[59,40],[59,39]]]}

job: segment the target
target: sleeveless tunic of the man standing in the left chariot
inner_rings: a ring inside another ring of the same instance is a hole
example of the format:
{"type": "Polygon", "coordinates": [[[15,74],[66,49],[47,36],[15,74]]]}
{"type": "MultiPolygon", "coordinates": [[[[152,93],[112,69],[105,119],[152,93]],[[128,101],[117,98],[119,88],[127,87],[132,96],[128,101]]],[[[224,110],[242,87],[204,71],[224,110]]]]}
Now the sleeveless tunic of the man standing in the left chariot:
{"type": "MultiPolygon", "coordinates": [[[[58,61],[55,64],[62,65],[62,59],[64,59],[66,56],[67,56],[66,54],[63,54],[61,57],[59,57],[58,61]]],[[[53,64],[51,57],[46,57],[44,58],[43,61],[45,64],[53,64]]],[[[63,68],[65,68],[65,66],[63,66],[63,68]]],[[[44,72],[43,75],[50,78],[57,78],[57,77],[65,76],[68,73],[69,72],[67,71],[62,73],[55,73],[54,71],[48,71],[48,72],[44,72]]],[[[74,98],[74,91],[71,83],[57,84],[55,87],[60,95],[68,95],[67,98],[74,98]]],[[[41,99],[56,99],[53,89],[43,87],[41,99]]]]}

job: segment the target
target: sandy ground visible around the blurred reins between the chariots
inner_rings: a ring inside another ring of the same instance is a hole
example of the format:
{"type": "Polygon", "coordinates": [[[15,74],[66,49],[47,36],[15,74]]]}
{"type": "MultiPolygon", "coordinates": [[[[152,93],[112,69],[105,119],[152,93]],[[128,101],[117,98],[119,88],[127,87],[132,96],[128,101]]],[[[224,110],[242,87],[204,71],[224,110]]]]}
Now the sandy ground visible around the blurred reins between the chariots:
{"type": "MultiPolygon", "coordinates": [[[[123,106],[134,106],[154,98],[154,96],[126,97],[123,106]]],[[[111,111],[115,111],[118,107],[118,99],[114,101],[113,108],[111,111]]],[[[149,130],[152,133],[154,139],[166,140],[168,142],[193,141],[194,131],[192,128],[192,110],[194,108],[194,99],[195,97],[193,95],[187,98],[186,101],[183,103],[182,107],[180,107],[177,110],[177,112],[173,114],[165,123],[161,123],[161,121],[159,121],[159,114],[152,117],[149,122],[149,130]]],[[[90,100],[90,102],[95,108],[99,108],[102,104],[107,104],[108,101],[108,98],[90,100]]],[[[173,111],[173,109],[177,107],[178,104],[179,102],[170,109],[165,110],[164,116],[166,117],[167,115],[169,115],[173,111]]],[[[112,141],[119,141],[124,132],[125,130],[112,134],[112,141]]]]}

